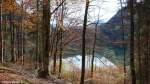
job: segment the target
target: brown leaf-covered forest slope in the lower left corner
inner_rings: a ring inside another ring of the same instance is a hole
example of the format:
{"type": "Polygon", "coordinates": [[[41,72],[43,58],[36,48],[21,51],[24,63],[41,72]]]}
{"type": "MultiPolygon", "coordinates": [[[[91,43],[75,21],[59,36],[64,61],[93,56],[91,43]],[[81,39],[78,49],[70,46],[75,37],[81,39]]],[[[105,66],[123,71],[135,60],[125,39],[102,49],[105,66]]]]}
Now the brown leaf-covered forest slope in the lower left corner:
{"type": "Polygon", "coordinates": [[[64,82],[52,77],[37,78],[31,71],[16,64],[0,64],[0,84],[64,84],[64,82]]]}

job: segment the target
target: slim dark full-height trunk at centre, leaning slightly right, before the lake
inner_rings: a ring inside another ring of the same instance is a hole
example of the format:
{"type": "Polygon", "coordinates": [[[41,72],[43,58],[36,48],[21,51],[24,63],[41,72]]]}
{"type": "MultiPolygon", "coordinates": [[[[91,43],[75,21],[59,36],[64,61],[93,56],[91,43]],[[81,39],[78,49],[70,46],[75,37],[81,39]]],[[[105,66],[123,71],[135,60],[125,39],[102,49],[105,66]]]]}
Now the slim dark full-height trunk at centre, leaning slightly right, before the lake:
{"type": "Polygon", "coordinates": [[[80,84],[84,84],[84,78],[85,78],[85,55],[86,55],[86,51],[85,51],[85,34],[86,34],[88,8],[89,8],[89,0],[86,0],[84,23],[83,23],[83,32],[82,32],[82,70],[81,70],[80,84]]]}

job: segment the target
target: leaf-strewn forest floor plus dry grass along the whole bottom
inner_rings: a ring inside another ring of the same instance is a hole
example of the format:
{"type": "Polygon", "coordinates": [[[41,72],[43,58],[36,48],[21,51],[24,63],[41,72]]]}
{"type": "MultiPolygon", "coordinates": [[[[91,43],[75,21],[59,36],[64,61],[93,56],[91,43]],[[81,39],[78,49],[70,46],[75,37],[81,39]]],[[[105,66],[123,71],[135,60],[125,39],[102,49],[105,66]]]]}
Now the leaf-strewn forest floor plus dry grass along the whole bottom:
{"type": "MultiPolygon", "coordinates": [[[[87,72],[85,84],[123,84],[122,70],[100,69],[95,71],[93,78],[89,78],[90,74],[87,72]]],[[[61,80],[52,74],[47,79],[37,78],[36,72],[35,67],[31,65],[0,63],[0,84],[79,84],[80,72],[64,73],[61,80]]]]}

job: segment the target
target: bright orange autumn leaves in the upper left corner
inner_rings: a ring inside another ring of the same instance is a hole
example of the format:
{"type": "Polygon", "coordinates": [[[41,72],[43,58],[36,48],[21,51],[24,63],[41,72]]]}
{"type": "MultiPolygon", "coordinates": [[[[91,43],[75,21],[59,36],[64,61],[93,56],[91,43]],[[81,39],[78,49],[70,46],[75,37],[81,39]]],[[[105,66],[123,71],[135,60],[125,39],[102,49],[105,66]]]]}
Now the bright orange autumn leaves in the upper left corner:
{"type": "MultiPolygon", "coordinates": [[[[25,0],[23,3],[18,4],[16,0],[3,0],[2,2],[2,11],[3,14],[9,15],[10,13],[14,15],[12,18],[13,24],[16,26],[23,25],[24,28],[33,28],[35,23],[37,22],[36,15],[29,14],[26,12],[25,5],[31,4],[33,0],[25,0]],[[23,19],[22,19],[23,17],[23,19]]],[[[9,19],[7,19],[6,22],[9,19]]]]}

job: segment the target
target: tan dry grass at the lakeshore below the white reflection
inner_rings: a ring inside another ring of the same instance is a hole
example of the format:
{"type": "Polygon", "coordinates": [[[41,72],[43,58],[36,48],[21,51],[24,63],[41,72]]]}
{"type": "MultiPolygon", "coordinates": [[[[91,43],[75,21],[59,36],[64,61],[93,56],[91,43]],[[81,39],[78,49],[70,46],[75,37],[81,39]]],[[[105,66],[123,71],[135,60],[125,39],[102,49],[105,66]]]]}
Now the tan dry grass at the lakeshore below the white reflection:
{"type": "MultiPolygon", "coordinates": [[[[73,84],[79,84],[80,70],[63,71],[62,79],[68,80],[73,84]]],[[[90,70],[86,70],[85,83],[86,84],[123,84],[124,82],[123,67],[118,68],[97,68],[94,70],[93,78],[90,76],[90,70]]],[[[127,78],[126,78],[127,79],[127,78]]]]}

